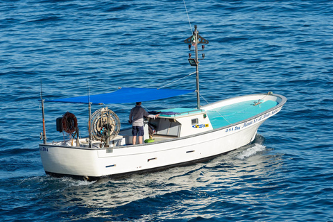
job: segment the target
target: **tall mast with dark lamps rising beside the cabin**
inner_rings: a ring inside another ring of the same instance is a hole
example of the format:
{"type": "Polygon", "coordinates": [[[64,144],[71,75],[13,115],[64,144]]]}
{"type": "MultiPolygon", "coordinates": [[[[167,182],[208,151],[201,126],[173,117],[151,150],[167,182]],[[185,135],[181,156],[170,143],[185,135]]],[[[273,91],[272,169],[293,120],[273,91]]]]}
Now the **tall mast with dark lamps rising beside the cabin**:
{"type": "Polygon", "coordinates": [[[195,53],[195,58],[191,58],[192,54],[189,53],[189,64],[191,66],[196,67],[196,108],[200,109],[200,87],[199,87],[199,61],[198,60],[203,60],[205,59],[205,53],[202,54],[203,58],[198,58],[198,51],[204,51],[205,46],[202,45],[202,49],[198,49],[198,44],[208,44],[209,42],[205,40],[203,37],[199,35],[199,31],[197,29],[197,26],[194,26],[194,32],[191,37],[188,37],[185,41],[185,43],[189,44],[189,51],[194,51],[195,53]],[[191,46],[194,46],[194,49],[191,49],[191,46]]]}

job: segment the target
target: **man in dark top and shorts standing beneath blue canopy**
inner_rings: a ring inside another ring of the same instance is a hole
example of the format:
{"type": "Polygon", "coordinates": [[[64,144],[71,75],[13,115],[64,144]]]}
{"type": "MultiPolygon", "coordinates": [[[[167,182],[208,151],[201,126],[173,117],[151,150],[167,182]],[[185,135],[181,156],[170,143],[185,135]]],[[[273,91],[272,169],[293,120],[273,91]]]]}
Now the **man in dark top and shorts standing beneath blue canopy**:
{"type": "Polygon", "coordinates": [[[137,135],[139,135],[139,144],[142,144],[142,137],[144,136],[144,117],[156,118],[160,114],[152,115],[142,108],[141,102],[137,102],[135,107],[130,110],[129,123],[132,124],[133,145],[137,142],[137,135]]]}

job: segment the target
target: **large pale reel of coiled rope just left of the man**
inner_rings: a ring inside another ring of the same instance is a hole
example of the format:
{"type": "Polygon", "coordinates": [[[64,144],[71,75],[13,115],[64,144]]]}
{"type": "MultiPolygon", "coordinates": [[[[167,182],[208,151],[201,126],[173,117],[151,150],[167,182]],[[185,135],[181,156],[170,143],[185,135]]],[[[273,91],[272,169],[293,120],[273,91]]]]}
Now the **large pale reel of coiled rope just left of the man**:
{"type": "Polygon", "coordinates": [[[106,147],[110,140],[116,137],[120,130],[120,120],[117,114],[109,110],[108,107],[96,110],[92,114],[92,137],[100,140],[106,147]]]}

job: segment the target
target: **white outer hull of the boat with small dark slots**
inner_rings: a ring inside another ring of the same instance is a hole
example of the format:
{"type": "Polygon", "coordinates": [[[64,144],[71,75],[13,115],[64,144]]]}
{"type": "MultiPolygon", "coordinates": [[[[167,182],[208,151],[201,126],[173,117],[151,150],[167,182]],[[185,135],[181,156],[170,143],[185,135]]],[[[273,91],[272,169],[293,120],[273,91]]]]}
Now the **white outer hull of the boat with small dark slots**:
{"type": "MultiPolygon", "coordinates": [[[[156,171],[204,161],[252,142],[259,126],[281,110],[285,98],[282,96],[280,100],[282,101],[274,108],[250,119],[204,133],[162,142],[114,148],[40,144],[43,167],[46,173],[52,176],[96,180],[105,176],[119,178],[130,173],[156,171]]],[[[232,101],[226,100],[225,103],[232,103],[232,101]]]]}

